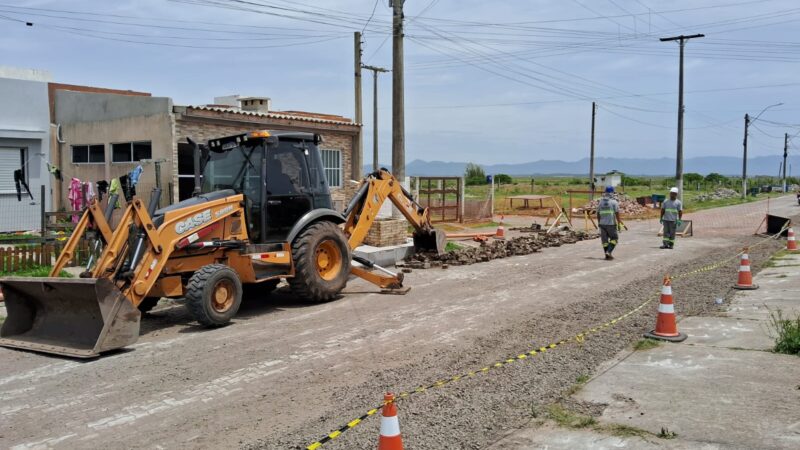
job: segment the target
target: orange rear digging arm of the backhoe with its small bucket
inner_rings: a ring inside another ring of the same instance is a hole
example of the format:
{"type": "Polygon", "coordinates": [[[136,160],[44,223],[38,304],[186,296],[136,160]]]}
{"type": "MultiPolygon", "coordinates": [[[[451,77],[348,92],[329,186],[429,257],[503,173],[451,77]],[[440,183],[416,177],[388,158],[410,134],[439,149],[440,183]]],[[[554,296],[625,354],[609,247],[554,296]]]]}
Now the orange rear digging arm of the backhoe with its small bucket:
{"type": "MultiPolygon", "coordinates": [[[[356,195],[345,210],[344,232],[351,249],[360,246],[372,227],[383,203],[389,199],[414,227],[414,248],[417,251],[444,253],[445,234],[433,228],[428,209],[414,201],[403,185],[385,169],[381,169],[362,180],[356,195]]],[[[393,273],[360,257],[353,260],[361,266],[353,266],[351,273],[373,283],[387,292],[406,292],[403,289],[403,274],[393,273]],[[376,269],[369,271],[364,269],[376,269]]]]}

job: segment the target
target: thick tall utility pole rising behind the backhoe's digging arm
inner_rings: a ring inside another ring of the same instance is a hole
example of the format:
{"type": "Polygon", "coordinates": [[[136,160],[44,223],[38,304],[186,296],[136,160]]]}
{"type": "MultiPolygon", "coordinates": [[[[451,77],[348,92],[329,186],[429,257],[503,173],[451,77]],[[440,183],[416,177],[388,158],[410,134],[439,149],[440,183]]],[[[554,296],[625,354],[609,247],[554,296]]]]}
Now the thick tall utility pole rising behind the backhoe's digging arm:
{"type": "Polygon", "coordinates": [[[392,6],[392,174],[402,183],[406,177],[405,105],[403,88],[403,3],[392,6]]]}

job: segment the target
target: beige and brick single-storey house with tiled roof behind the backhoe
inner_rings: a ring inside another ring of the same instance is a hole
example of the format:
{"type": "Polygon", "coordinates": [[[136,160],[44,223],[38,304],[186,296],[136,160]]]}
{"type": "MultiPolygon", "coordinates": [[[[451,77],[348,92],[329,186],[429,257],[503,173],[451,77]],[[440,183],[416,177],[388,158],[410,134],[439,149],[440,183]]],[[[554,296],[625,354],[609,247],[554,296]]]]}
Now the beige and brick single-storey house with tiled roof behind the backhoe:
{"type": "MultiPolygon", "coordinates": [[[[304,131],[320,134],[325,175],[334,207],[344,209],[353,194],[352,152],[361,125],[342,116],[303,111],[271,111],[268,97],[230,95],[214,104],[173,105],[170,98],[145,93],[54,91],[54,123],[60,130],[53,159],[59,161],[66,185],[109,181],[138,165],[144,169],[136,187],[147,200],[153,187],[162,189],[161,204],[189,198],[194,189],[193,149],[200,143],[254,130],[304,131]],[[160,177],[156,178],[156,167],[160,177]]],[[[56,197],[66,206],[67,188],[56,197]]]]}

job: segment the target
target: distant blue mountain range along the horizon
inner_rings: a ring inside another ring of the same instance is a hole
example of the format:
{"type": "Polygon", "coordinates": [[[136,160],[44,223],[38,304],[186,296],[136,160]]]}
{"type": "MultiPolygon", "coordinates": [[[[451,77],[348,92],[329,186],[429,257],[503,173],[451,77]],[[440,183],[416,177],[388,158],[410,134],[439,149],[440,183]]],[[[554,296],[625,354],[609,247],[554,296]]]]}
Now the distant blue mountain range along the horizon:
{"type": "MultiPolygon", "coordinates": [[[[747,161],[747,175],[778,175],[781,156],[759,156],[747,161]]],[[[415,159],[406,164],[409,176],[459,176],[464,174],[466,162],[422,161],[415,159]]],[[[520,164],[481,164],[487,174],[507,175],[588,175],[589,158],[579,161],[540,160],[520,164]]],[[[391,168],[390,165],[382,167],[391,168]]],[[[618,170],[627,175],[670,176],[675,174],[675,159],[644,158],[595,158],[595,173],[602,174],[618,170]]],[[[800,157],[789,157],[789,170],[800,171],[800,157]]],[[[364,172],[372,170],[372,165],[364,166],[364,172]]],[[[742,174],[742,158],[729,156],[702,156],[687,158],[683,162],[684,173],[696,172],[707,175],[711,172],[723,175],[742,174]]],[[[788,174],[788,171],[787,171],[788,174]]]]}

